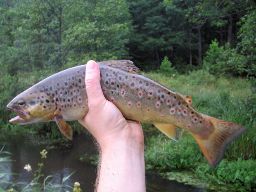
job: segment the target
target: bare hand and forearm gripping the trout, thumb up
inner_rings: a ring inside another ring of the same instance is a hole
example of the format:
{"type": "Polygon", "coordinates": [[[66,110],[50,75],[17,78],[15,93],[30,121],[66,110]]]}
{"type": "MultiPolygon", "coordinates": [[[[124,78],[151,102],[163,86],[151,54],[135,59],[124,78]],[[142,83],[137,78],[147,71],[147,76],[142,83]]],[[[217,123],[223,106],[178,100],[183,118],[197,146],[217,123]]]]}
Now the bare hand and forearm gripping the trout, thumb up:
{"type": "Polygon", "coordinates": [[[97,192],[145,192],[144,138],[139,122],[128,123],[119,109],[107,101],[100,86],[96,62],[86,65],[88,114],[79,120],[101,147],[97,192]]]}

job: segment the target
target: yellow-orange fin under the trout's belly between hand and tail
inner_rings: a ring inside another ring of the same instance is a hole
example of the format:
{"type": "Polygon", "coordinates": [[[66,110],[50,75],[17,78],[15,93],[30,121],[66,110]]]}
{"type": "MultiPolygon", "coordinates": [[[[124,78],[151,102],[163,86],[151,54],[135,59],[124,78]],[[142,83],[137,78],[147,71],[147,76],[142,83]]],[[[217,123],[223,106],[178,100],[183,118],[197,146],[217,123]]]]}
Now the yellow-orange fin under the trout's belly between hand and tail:
{"type": "Polygon", "coordinates": [[[176,127],[173,124],[164,124],[164,123],[154,123],[154,126],[161,130],[162,133],[167,135],[172,140],[178,141],[180,128],[176,127]]]}

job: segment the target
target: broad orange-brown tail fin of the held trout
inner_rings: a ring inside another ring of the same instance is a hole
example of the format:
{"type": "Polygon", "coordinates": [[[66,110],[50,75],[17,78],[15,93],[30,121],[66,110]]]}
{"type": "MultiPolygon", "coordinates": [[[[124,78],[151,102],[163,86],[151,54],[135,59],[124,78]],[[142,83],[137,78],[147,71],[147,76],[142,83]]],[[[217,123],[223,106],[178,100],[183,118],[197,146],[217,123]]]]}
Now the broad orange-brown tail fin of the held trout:
{"type": "Polygon", "coordinates": [[[203,115],[203,118],[209,122],[207,125],[210,126],[210,129],[206,130],[213,130],[213,132],[199,135],[192,133],[191,135],[197,141],[209,164],[216,168],[216,165],[223,159],[227,146],[246,132],[247,128],[208,115],[203,115]],[[206,139],[205,135],[209,137],[206,139]]]}

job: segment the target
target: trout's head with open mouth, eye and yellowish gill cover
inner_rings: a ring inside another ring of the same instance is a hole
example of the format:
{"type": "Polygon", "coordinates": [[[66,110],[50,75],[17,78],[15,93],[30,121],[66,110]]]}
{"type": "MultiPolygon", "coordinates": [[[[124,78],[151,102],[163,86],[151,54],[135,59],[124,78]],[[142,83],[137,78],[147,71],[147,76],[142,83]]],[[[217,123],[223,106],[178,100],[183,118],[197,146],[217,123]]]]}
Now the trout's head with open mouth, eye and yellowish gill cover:
{"type": "Polygon", "coordinates": [[[51,121],[57,104],[46,92],[28,89],[17,95],[6,108],[18,115],[10,119],[10,123],[25,125],[51,121]]]}

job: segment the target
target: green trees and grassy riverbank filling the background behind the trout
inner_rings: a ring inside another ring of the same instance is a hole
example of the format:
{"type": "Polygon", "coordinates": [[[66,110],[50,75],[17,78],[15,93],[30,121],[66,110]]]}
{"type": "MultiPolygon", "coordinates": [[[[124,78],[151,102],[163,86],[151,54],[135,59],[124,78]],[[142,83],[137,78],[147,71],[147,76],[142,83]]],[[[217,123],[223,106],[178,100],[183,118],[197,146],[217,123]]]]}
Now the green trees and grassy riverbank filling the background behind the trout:
{"type": "Polygon", "coordinates": [[[1,142],[15,134],[66,140],[55,123],[10,124],[6,105],[91,59],[129,59],[144,76],[190,95],[201,113],[249,129],[212,169],[186,132],[174,143],[143,124],[147,168],[211,190],[256,191],[255,0],[0,0],[1,142]]]}

